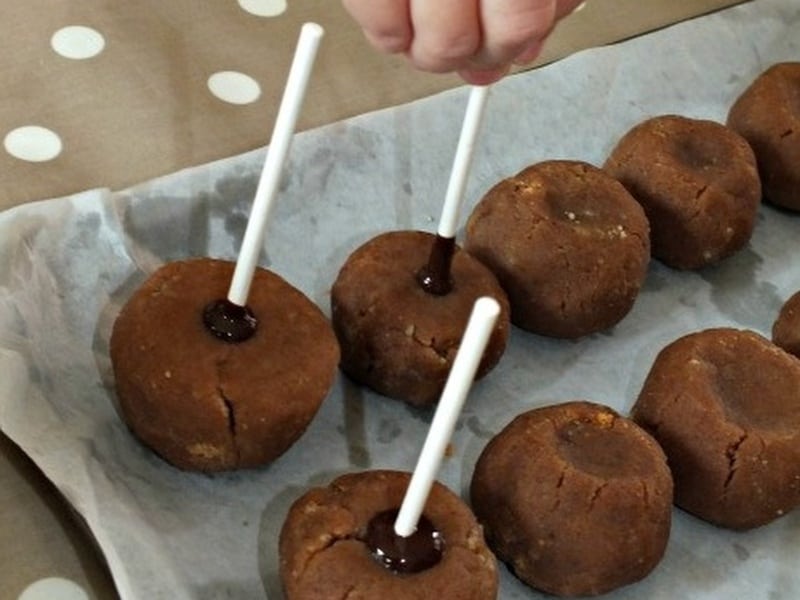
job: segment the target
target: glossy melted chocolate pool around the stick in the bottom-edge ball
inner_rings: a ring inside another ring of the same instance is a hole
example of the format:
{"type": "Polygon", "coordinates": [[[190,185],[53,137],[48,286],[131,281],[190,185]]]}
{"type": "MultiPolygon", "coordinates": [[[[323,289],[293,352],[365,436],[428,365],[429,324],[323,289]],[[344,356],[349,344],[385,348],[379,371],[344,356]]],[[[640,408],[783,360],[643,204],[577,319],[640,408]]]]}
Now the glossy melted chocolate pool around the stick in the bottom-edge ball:
{"type": "Polygon", "coordinates": [[[394,532],[397,513],[392,509],[375,515],[367,526],[364,543],[375,560],[395,573],[419,573],[430,569],[442,559],[442,534],[422,516],[414,533],[408,537],[397,535],[394,532]]]}

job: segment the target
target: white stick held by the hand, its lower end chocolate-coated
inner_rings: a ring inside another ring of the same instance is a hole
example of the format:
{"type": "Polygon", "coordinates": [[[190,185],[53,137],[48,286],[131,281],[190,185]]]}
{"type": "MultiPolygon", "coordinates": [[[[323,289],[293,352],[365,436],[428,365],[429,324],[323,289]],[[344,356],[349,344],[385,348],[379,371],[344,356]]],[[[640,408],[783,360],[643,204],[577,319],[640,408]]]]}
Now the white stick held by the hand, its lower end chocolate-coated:
{"type": "Polygon", "coordinates": [[[464,123],[461,126],[461,136],[458,139],[456,156],[453,159],[453,170],[450,172],[450,182],[442,207],[437,233],[445,238],[456,237],[458,217],[461,212],[461,203],[464,198],[464,189],[467,186],[472,156],[475,154],[475,141],[483,121],[483,112],[486,99],[489,96],[488,86],[473,86],[469,95],[464,123]]]}

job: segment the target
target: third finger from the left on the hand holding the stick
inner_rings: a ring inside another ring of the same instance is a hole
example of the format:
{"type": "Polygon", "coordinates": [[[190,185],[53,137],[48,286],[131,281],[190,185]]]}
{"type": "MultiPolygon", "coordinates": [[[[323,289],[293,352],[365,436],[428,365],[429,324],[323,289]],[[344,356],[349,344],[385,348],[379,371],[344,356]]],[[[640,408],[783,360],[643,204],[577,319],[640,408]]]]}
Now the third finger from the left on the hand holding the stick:
{"type": "Polygon", "coordinates": [[[556,8],[556,0],[484,0],[483,44],[475,65],[508,64],[541,43],[553,28],[556,8]]]}

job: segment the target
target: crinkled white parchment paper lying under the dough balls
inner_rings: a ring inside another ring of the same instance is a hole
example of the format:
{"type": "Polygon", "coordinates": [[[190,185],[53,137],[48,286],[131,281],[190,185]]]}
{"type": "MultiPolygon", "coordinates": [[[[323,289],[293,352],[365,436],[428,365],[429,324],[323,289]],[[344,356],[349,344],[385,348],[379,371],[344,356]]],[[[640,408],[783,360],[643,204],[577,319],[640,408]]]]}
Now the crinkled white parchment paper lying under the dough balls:
{"type": "MultiPolygon", "coordinates": [[[[779,60],[800,60],[797,0],[755,0],[508,78],[489,100],[465,213],[533,162],[601,164],[646,117],[723,121],[779,60]]],[[[390,229],[434,231],[466,99],[462,88],[298,135],[261,264],[329,312],[330,285],[356,246],[390,229]]],[[[168,466],[119,420],[107,343],[120,306],[164,261],[235,258],[263,157],[0,215],[0,426],[85,520],[125,600],[280,598],[276,543],[290,503],[344,471],[412,468],[427,431],[431,413],[340,376],[278,461],[210,477],[168,466]]],[[[571,342],[515,329],[474,386],[440,479],[464,494],[488,438],[527,408],[583,398],[627,412],[655,354],[684,333],[769,335],[800,289],[798,251],[800,215],[763,206],[749,246],[724,263],[686,273],[654,262],[611,331],[571,342]]],[[[608,597],[797,598],[798,565],[798,511],[733,533],[676,510],[662,563],[608,597]]],[[[501,597],[543,596],[503,570],[501,597]]]]}

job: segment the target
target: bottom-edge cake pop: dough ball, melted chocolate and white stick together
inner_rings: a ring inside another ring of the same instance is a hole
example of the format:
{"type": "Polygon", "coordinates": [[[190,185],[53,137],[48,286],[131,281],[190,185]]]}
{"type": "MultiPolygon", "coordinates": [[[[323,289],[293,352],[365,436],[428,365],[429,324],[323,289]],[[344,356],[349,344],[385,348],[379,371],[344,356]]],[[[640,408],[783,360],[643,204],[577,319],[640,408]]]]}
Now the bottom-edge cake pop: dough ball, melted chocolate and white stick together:
{"type": "Polygon", "coordinates": [[[475,302],[410,478],[396,471],[345,476],[292,506],[280,538],[281,577],[289,600],[351,593],[363,598],[496,597],[497,572],[472,513],[435,477],[499,314],[495,300],[475,302]],[[405,489],[402,503],[400,486],[405,489]],[[344,543],[352,539],[359,543],[344,543]],[[364,564],[365,549],[372,564],[364,564]],[[377,571],[376,564],[391,575],[377,571]],[[448,583],[458,573],[459,581],[448,583]]]}

